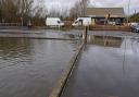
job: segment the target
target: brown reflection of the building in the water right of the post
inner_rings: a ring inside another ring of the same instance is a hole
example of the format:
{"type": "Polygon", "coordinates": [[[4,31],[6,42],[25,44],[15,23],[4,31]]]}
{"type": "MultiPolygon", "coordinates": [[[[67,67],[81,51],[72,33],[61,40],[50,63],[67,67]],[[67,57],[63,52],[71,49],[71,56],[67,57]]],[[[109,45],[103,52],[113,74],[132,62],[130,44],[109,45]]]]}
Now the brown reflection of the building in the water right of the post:
{"type": "Polygon", "coordinates": [[[94,36],[94,35],[88,36],[88,45],[119,48],[122,43],[123,39],[121,37],[94,36]]]}

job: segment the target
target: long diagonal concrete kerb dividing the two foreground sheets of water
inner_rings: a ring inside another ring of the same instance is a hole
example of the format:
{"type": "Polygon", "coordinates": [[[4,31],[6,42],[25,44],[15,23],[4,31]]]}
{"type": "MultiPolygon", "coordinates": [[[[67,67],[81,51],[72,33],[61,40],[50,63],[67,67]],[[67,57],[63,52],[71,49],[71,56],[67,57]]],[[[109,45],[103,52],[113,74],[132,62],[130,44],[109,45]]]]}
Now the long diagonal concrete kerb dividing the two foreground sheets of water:
{"type": "Polygon", "coordinates": [[[64,72],[62,73],[62,76],[61,78],[58,81],[55,87],[52,89],[51,94],[49,97],[60,97],[62,92],[63,92],[63,88],[66,84],[66,81],[68,80],[72,71],[73,71],[73,68],[75,66],[75,63],[83,50],[85,46],[85,43],[83,43],[79,48],[78,48],[78,51],[74,54],[74,57],[70,60],[70,62],[67,63],[67,66],[66,69],[64,70],[64,72]]]}

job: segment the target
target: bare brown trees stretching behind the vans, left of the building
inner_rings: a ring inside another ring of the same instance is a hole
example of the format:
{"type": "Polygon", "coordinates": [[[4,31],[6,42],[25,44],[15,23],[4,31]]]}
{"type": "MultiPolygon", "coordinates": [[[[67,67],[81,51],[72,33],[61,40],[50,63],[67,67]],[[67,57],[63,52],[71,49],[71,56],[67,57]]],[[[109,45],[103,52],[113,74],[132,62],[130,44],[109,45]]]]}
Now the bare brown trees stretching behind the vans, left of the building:
{"type": "Polygon", "coordinates": [[[45,0],[0,0],[0,23],[21,23],[28,21],[35,26],[43,26],[47,16],[59,16],[62,20],[74,20],[85,15],[89,0],[78,0],[70,10],[63,9],[47,11],[45,0]]]}

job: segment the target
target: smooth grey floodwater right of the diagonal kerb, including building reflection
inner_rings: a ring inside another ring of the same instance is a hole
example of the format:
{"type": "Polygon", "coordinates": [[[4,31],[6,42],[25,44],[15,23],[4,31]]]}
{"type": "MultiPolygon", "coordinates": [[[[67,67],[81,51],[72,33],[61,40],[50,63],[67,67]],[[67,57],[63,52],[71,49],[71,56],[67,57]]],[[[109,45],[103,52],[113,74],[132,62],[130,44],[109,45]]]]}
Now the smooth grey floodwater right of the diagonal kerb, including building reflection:
{"type": "Polygon", "coordinates": [[[89,36],[61,97],[139,97],[139,38],[89,36]]]}

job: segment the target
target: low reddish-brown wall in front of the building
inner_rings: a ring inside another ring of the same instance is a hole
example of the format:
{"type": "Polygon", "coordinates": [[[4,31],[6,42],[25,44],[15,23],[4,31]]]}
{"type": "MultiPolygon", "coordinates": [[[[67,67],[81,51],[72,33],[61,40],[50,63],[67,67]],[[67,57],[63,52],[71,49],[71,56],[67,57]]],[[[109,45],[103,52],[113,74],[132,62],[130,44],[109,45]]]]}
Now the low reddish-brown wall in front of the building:
{"type": "Polygon", "coordinates": [[[90,31],[124,31],[124,32],[130,32],[129,26],[125,25],[90,25],[90,31]]]}

